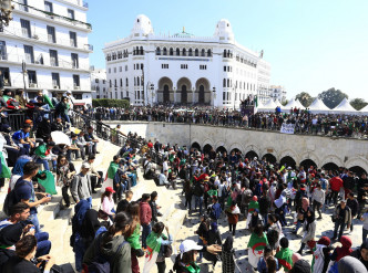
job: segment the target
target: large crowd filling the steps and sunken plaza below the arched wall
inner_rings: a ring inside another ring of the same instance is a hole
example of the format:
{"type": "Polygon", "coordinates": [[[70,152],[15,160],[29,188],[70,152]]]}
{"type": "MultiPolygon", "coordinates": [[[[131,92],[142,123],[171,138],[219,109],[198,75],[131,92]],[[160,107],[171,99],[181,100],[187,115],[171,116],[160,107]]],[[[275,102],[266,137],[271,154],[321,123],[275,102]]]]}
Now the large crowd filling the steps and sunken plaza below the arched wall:
{"type": "MultiPolygon", "coordinates": [[[[202,153],[159,140],[142,141],[133,134],[112,156],[108,170],[101,171],[94,166],[99,139],[90,126],[78,133],[72,127],[68,111],[73,106],[68,98],[64,101],[68,94],[55,104],[39,95],[38,102],[49,105],[49,109],[37,106],[35,114],[29,115],[18,132],[9,126],[10,117],[4,114],[9,112],[8,106],[1,106],[0,176],[2,188],[7,181],[9,190],[3,203],[8,217],[0,222],[0,272],[60,270],[50,255],[49,233],[38,219],[38,207],[51,201],[55,186],[62,189],[63,207],[74,204],[70,245],[78,272],[149,273],[156,267],[159,273],[170,270],[192,273],[201,272],[203,260],[213,265],[221,261],[225,273],[242,272],[244,265],[236,261],[234,242],[245,240],[245,235],[249,235],[244,249],[254,271],[367,272],[368,179],[365,172],[313,166],[293,168],[269,164],[265,158],[246,158],[241,151],[202,153]],[[51,124],[52,108],[57,113],[51,124]],[[53,132],[65,134],[70,143],[60,143],[52,137],[53,132]],[[137,147],[137,143],[144,146],[137,147]],[[152,162],[153,153],[163,158],[159,168],[152,162]],[[73,164],[76,160],[83,161],[80,169],[73,164]],[[140,197],[133,193],[139,182],[145,182],[139,181],[141,171],[156,187],[170,190],[182,183],[185,209],[200,219],[197,241],[187,239],[181,243],[173,269],[166,269],[165,259],[174,255],[174,238],[162,222],[157,191],[140,197]],[[92,207],[92,197],[99,197],[98,207],[92,207]],[[325,229],[333,229],[331,237],[317,234],[317,222],[326,218],[329,227],[325,229]],[[219,232],[223,219],[228,225],[226,234],[219,232]],[[246,221],[245,231],[238,230],[239,221],[246,221]],[[351,238],[346,233],[357,229],[357,223],[362,224],[358,240],[361,244],[352,250],[351,238]],[[289,232],[288,227],[293,225],[289,232]],[[290,238],[300,242],[297,252],[289,248],[290,238]],[[339,245],[335,248],[336,242],[339,245]],[[311,263],[305,259],[307,253],[313,254],[311,263]],[[144,259],[143,269],[140,269],[140,258],[144,259]]],[[[8,105],[10,98],[6,98],[8,105]]],[[[151,113],[149,120],[161,116],[175,122],[181,117],[165,108],[156,112],[135,108],[127,116],[136,113],[151,113]]],[[[194,123],[219,118],[218,115],[209,117],[209,112],[207,116],[192,113],[186,118],[194,123]]],[[[275,115],[282,117],[282,114],[275,115]]],[[[308,116],[293,114],[288,118],[299,115],[308,116]]],[[[226,120],[235,120],[233,114],[226,113],[226,120]]]]}

